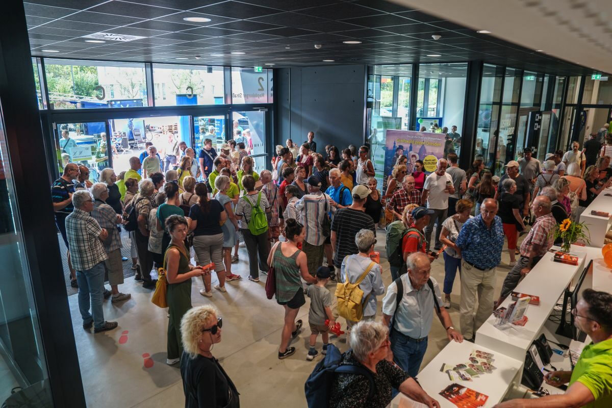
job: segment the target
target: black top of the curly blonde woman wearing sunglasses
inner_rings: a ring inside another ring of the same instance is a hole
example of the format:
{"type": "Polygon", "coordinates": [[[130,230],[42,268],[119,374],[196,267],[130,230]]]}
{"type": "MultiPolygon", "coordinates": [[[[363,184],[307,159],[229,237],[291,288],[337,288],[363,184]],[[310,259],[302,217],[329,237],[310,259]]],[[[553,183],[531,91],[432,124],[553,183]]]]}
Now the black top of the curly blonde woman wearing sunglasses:
{"type": "Polygon", "coordinates": [[[185,408],[239,407],[236,386],[216,358],[181,356],[185,408]]]}

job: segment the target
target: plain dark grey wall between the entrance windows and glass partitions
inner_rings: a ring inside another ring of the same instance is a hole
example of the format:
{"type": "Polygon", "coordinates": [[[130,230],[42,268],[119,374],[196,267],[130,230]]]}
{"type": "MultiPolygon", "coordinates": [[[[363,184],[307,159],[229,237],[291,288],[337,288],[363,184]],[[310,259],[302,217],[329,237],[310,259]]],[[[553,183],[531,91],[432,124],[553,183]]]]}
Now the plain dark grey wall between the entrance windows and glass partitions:
{"type": "MultiPolygon", "coordinates": [[[[280,107],[278,128],[288,129],[294,143],[304,142],[312,130],[318,152],[326,144],[360,146],[364,142],[365,70],[365,65],[291,68],[289,106],[280,107]]],[[[279,71],[280,79],[286,81],[285,70],[279,71]]],[[[282,132],[277,142],[284,145],[289,135],[282,132]]]]}

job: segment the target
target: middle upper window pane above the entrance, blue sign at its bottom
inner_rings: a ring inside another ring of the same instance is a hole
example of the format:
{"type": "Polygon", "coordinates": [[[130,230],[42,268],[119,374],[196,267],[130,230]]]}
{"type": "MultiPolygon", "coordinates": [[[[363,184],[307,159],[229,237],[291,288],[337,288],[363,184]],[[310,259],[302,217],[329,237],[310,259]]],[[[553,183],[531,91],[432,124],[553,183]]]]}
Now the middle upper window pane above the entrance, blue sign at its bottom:
{"type": "Polygon", "coordinates": [[[153,64],[155,106],[223,105],[223,67],[153,64]]]}

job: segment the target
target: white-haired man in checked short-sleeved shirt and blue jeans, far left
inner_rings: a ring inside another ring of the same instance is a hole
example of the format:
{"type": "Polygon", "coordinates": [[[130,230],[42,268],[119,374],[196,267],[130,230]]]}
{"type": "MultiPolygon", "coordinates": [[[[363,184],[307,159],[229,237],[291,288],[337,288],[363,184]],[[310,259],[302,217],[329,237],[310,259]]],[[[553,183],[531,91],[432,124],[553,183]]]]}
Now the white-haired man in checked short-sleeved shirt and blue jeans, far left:
{"type": "Polygon", "coordinates": [[[74,211],[66,217],[66,233],[72,265],[78,281],[78,307],[83,319],[83,328],[94,327],[95,333],[117,327],[117,322],[106,322],[102,309],[104,291],[104,261],[108,259],[102,241],[108,231],[91,215],[94,200],[87,190],[75,191],[72,195],[74,211]],[[91,313],[89,309],[91,306],[91,313]]]}

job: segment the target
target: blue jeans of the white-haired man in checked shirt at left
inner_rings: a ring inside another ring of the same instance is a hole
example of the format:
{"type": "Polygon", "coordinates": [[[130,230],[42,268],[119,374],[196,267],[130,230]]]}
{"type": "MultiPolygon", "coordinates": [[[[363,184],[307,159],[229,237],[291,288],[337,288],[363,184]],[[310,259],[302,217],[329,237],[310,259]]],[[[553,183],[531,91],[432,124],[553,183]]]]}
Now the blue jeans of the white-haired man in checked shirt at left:
{"type": "Polygon", "coordinates": [[[104,326],[104,311],[102,310],[102,293],[104,291],[104,262],[92,269],[77,270],[78,309],[83,318],[83,324],[94,321],[94,328],[104,326]],[[91,313],[89,313],[89,298],[91,297],[91,313]]]}

